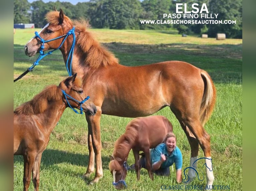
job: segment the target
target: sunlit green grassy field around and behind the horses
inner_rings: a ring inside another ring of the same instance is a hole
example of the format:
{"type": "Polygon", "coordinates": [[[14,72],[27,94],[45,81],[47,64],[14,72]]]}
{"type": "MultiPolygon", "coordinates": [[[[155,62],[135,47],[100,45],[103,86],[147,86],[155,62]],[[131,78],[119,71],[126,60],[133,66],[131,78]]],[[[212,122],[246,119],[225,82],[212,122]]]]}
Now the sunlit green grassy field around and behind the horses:
{"type": "MultiPolygon", "coordinates": [[[[37,29],[36,31],[39,31],[37,29]]],[[[18,77],[36,60],[25,56],[23,47],[34,36],[34,29],[17,29],[14,35],[14,78],[18,77]]],[[[91,29],[105,47],[112,51],[120,64],[145,65],[167,60],[189,62],[206,70],[217,89],[217,103],[212,117],[205,125],[211,136],[215,185],[229,185],[230,190],[242,190],[242,40],[195,36],[181,37],[176,31],[133,31],[91,29]]],[[[45,86],[59,84],[68,76],[60,51],[45,57],[33,72],[14,83],[14,108],[30,100],[45,86]]],[[[189,166],[190,147],[178,121],[164,108],[155,113],[166,116],[173,124],[177,146],[183,155],[183,167],[189,166]]],[[[82,178],[88,163],[88,128],[84,115],[66,109],[53,130],[47,149],[43,152],[40,168],[40,190],[85,191],[115,190],[108,170],[109,155],[115,140],[124,132],[131,118],[102,115],[102,162],[104,177],[95,185],[82,178]]],[[[199,157],[203,157],[200,149],[199,157]]],[[[128,164],[134,163],[132,152],[128,164]]],[[[199,163],[198,166],[203,166],[199,163]]],[[[205,170],[203,168],[203,172],[205,170]]],[[[14,190],[22,190],[23,158],[14,157],[14,190]]],[[[135,171],[126,178],[127,190],[161,190],[162,185],[177,185],[175,173],[170,177],[154,177],[151,181],[142,169],[140,181],[135,171]]],[[[191,185],[205,185],[194,180],[191,185]]],[[[33,190],[31,182],[29,190],[33,190]]]]}

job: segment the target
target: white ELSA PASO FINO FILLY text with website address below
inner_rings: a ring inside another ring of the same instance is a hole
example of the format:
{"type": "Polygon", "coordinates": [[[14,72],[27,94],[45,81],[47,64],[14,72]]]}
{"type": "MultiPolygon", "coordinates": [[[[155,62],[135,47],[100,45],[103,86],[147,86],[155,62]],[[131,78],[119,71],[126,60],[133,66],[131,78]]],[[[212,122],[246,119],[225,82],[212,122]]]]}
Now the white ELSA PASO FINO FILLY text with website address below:
{"type": "Polygon", "coordinates": [[[164,20],[140,20],[140,24],[236,24],[236,20],[217,20],[219,14],[209,13],[205,3],[200,10],[198,5],[193,3],[192,11],[187,11],[187,4],[184,3],[183,12],[183,3],[176,3],[176,13],[164,13],[164,20]]]}

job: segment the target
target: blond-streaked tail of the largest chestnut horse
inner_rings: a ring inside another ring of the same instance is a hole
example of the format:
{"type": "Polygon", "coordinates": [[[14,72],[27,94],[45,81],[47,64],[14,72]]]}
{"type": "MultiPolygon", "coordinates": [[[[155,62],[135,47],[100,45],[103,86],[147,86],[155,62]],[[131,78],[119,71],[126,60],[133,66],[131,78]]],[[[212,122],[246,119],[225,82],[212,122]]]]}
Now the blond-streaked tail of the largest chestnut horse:
{"type": "Polygon", "coordinates": [[[204,81],[205,89],[200,107],[200,121],[204,126],[213,112],[216,102],[216,89],[211,77],[206,71],[201,70],[201,76],[204,81]]]}

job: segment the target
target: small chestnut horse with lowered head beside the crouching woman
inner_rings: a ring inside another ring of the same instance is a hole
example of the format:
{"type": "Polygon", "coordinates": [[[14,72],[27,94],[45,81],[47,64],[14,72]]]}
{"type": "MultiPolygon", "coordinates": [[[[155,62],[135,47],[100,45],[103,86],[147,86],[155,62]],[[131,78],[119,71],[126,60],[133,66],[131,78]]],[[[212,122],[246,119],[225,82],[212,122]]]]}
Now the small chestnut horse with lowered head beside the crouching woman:
{"type": "Polygon", "coordinates": [[[161,115],[137,117],[127,124],[125,133],[116,140],[114,151],[110,156],[109,170],[113,175],[115,188],[122,189],[126,186],[126,160],[131,149],[135,159],[137,180],[140,179],[139,151],[144,152],[146,169],[151,180],[154,179],[149,149],[162,143],[168,132],[172,132],[172,124],[161,115]]]}

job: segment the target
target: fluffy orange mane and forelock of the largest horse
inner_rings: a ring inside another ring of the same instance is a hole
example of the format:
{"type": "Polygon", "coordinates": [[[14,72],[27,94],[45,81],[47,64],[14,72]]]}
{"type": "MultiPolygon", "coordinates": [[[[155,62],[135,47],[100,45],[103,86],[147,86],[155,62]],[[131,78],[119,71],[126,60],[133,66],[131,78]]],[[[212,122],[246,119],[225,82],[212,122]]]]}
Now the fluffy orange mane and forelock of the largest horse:
{"type": "MultiPolygon", "coordinates": [[[[51,11],[46,14],[46,20],[54,25],[59,22],[59,12],[51,11]]],[[[97,42],[92,34],[87,31],[90,25],[86,21],[72,21],[64,15],[64,20],[69,22],[72,26],[75,26],[75,30],[78,33],[76,35],[76,43],[81,48],[84,54],[84,64],[92,68],[98,68],[100,66],[109,66],[118,64],[118,59],[113,53],[108,51],[99,42],[97,42]]]]}

